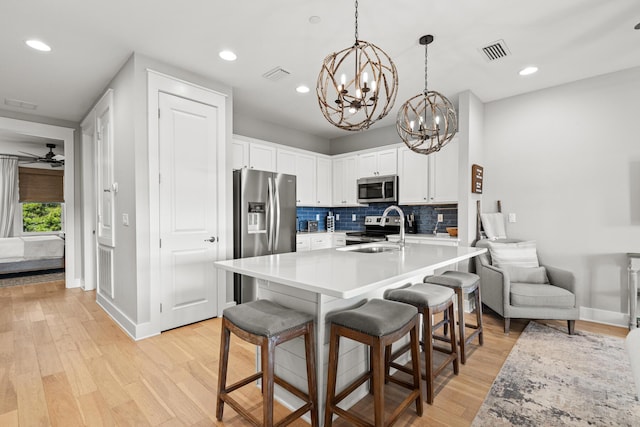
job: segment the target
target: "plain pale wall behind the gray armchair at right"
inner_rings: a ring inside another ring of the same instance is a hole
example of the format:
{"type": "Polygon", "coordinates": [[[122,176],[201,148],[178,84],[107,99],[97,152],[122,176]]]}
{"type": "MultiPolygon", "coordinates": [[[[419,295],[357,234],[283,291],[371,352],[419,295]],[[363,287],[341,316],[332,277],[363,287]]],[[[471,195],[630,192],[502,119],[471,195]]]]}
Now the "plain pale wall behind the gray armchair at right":
{"type": "Polygon", "coordinates": [[[483,204],[501,200],[510,237],[575,273],[585,317],[622,324],[626,253],[640,250],[639,99],[634,68],[485,105],[483,204]]]}

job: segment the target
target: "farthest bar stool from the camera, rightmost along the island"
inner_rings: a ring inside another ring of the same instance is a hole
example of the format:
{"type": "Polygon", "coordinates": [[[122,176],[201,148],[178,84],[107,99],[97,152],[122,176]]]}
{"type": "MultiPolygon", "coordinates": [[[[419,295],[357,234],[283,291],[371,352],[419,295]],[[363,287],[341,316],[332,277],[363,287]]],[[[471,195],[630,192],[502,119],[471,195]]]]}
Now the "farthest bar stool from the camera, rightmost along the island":
{"type": "MultiPolygon", "coordinates": [[[[482,301],[480,299],[480,276],[473,273],[462,271],[445,271],[438,276],[427,276],[424,278],[425,283],[433,283],[436,285],[447,286],[454,290],[458,299],[458,337],[460,339],[460,361],[465,364],[467,361],[466,346],[478,337],[478,343],[484,343],[482,328],[482,301]],[[476,303],[476,324],[466,323],[464,314],[464,296],[473,293],[476,303]],[[466,328],[472,328],[474,331],[466,335],[466,328]]],[[[445,329],[446,335],[446,329],[445,329]]]]}

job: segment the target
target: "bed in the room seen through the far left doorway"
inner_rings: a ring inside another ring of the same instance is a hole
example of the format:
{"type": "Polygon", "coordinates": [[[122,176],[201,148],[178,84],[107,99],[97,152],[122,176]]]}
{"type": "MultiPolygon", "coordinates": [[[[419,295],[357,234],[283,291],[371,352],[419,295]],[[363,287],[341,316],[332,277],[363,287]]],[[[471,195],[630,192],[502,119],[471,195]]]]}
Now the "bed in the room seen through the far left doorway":
{"type": "Polygon", "coordinates": [[[0,274],[64,268],[60,236],[0,238],[0,274]]]}

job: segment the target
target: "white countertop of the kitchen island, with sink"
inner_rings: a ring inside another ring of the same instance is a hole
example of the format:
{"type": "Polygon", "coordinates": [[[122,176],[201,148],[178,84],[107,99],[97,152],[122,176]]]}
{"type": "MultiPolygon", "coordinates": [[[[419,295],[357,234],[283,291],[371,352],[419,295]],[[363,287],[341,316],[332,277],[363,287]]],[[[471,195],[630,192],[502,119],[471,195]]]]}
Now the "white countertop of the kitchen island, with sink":
{"type": "Polygon", "coordinates": [[[349,250],[367,245],[371,244],[217,261],[214,265],[310,292],[352,298],[486,252],[485,248],[412,243],[389,252],[349,250]]]}

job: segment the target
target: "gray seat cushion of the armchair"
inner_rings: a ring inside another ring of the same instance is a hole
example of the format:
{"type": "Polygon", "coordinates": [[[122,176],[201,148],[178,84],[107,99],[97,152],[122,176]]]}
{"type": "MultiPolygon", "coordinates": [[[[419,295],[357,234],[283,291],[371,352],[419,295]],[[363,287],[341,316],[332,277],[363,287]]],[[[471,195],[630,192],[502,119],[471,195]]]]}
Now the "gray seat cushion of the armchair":
{"type": "Polygon", "coordinates": [[[511,283],[511,305],[521,307],[575,307],[576,296],[558,286],[537,283],[511,283]]]}

